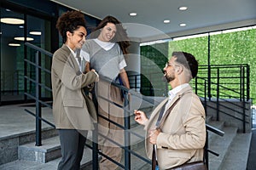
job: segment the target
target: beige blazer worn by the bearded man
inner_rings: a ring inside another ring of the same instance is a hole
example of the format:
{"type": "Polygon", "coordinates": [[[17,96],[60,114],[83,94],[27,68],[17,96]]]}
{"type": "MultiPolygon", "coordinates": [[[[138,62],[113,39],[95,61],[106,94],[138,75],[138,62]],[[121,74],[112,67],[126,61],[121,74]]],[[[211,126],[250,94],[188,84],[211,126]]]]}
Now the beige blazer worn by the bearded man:
{"type": "MultiPolygon", "coordinates": [[[[152,112],[145,126],[146,137],[148,130],[155,128],[164,99],[152,112]]],[[[201,100],[192,92],[189,86],[183,88],[172,99],[177,100],[169,115],[163,116],[160,124],[161,133],[157,138],[157,161],[160,169],[182,165],[184,162],[203,160],[203,147],[206,142],[205,111],[201,100]],[[179,99],[179,100],[177,100],[179,99]]],[[[170,106],[171,107],[171,106],[170,106]]],[[[152,145],[149,139],[145,142],[147,156],[152,157],[152,145]]]]}

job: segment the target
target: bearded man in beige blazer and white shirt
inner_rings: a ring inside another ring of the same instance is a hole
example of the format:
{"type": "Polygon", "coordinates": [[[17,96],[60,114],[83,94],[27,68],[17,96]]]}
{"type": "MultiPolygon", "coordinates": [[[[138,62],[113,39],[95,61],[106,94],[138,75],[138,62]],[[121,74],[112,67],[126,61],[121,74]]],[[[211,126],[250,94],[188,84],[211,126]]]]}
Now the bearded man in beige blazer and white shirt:
{"type": "Polygon", "coordinates": [[[164,68],[172,87],[169,98],[155,108],[149,120],[143,111],[134,111],[135,120],[145,126],[147,156],[152,158],[154,144],[160,169],[203,160],[205,111],[189,86],[197,71],[198,63],[192,54],[173,52],[164,68]]]}

